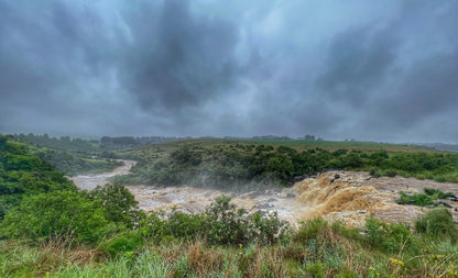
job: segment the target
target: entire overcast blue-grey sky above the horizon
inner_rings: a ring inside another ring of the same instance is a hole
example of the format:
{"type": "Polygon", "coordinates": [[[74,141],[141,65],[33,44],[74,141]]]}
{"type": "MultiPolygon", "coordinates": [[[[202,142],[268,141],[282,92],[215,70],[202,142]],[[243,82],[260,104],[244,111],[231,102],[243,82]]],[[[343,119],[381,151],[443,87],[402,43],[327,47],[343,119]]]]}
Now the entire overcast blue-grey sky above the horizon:
{"type": "Polygon", "coordinates": [[[1,0],[0,96],[0,133],[458,143],[458,0],[1,0]]]}

